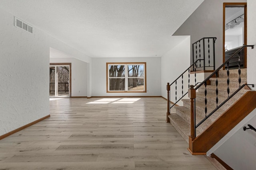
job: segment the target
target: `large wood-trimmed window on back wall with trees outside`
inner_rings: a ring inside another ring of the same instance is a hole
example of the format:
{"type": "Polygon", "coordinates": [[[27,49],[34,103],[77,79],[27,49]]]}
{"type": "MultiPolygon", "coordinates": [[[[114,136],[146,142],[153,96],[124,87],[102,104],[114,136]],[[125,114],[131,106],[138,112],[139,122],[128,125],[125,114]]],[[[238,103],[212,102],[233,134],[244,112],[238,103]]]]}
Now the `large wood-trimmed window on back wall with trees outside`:
{"type": "Polygon", "coordinates": [[[146,63],[107,63],[107,92],[146,92],[146,63]]]}

